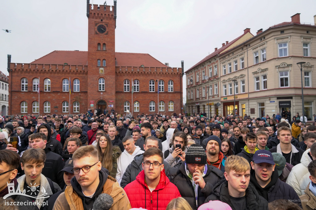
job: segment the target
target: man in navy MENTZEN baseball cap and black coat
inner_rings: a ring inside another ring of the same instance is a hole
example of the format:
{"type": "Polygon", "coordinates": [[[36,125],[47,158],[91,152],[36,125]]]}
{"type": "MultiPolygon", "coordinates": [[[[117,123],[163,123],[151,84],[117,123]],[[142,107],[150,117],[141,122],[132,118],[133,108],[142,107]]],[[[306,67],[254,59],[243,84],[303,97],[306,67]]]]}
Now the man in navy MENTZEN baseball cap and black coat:
{"type": "Polygon", "coordinates": [[[270,151],[257,150],[252,157],[251,167],[254,171],[250,174],[250,182],[256,187],[258,194],[269,203],[285,199],[301,206],[295,190],[279,179],[277,170],[274,170],[275,162],[270,151]]]}

